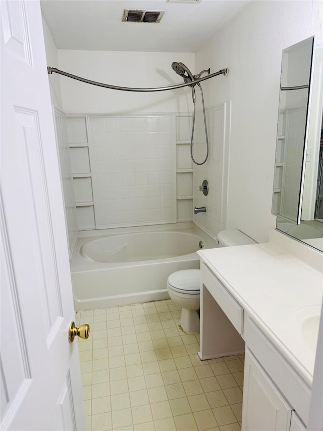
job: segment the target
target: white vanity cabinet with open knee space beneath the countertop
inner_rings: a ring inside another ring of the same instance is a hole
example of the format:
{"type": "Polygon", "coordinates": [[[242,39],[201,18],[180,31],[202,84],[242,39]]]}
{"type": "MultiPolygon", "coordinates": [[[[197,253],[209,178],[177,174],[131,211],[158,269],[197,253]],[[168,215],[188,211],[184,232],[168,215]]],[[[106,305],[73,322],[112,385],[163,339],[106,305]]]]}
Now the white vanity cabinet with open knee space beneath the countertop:
{"type": "Polygon", "coordinates": [[[200,359],[245,352],[242,430],[305,430],[310,388],[236,291],[201,262],[200,359]]]}

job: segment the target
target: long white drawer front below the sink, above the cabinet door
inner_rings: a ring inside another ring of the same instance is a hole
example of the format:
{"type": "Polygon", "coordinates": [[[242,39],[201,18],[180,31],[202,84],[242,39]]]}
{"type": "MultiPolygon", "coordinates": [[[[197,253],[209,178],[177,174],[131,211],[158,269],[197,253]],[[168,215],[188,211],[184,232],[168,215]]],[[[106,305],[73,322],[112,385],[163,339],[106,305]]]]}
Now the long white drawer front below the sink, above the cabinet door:
{"type": "Polygon", "coordinates": [[[251,350],[301,420],[306,423],[310,389],[250,318],[246,319],[244,329],[246,347],[251,350]]]}

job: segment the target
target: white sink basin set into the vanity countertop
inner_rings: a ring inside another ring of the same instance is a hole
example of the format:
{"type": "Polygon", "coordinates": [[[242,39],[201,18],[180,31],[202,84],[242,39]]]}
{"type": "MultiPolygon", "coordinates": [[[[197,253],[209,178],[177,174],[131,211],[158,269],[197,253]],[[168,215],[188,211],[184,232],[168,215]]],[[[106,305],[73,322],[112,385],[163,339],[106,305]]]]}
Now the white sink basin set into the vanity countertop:
{"type": "Polygon", "coordinates": [[[294,337],[303,341],[315,353],[321,306],[318,304],[305,305],[297,308],[289,316],[289,323],[294,337]]]}

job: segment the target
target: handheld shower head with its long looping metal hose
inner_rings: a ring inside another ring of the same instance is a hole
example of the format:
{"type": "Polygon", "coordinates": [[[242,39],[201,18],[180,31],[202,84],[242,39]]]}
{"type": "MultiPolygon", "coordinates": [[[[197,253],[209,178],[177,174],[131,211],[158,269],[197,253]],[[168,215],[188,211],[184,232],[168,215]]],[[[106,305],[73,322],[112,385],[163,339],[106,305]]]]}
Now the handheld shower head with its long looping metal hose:
{"type": "MultiPolygon", "coordinates": [[[[187,66],[185,66],[184,63],[178,63],[176,61],[172,63],[172,69],[184,79],[185,83],[191,84],[190,87],[192,89],[192,99],[193,99],[193,125],[192,125],[192,134],[191,134],[191,159],[195,163],[195,165],[204,165],[204,163],[206,162],[206,160],[208,158],[208,136],[207,136],[207,127],[206,127],[206,116],[205,116],[203,90],[202,90],[201,84],[199,82],[197,82],[197,85],[199,86],[199,88],[201,90],[203,116],[204,116],[204,128],[205,128],[205,139],[206,139],[206,156],[205,156],[205,159],[203,160],[203,162],[201,162],[201,163],[196,162],[196,160],[194,159],[194,156],[193,156],[193,137],[194,137],[195,116],[196,116],[196,112],[195,112],[195,99],[196,98],[195,98],[195,89],[194,89],[194,86],[196,85],[196,83],[194,83],[194,81],[196,79],[199,79],[203,73],[207,73],[209,75],[210,69],[202,70],[200,73],[193,76],[192,73],[190,72],[189,68],[187,66]]],[[[228,74],[228,70],[227,70],[226,74],[228,74]]]]}

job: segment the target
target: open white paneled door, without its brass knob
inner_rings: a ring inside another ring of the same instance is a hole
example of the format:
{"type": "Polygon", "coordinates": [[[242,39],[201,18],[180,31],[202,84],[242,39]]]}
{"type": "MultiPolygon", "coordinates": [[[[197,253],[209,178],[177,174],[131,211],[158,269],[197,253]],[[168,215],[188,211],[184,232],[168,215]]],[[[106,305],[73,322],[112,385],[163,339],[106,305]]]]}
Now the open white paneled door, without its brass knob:
{"type": "Polygon", "coordinates": [[[1,0],[1,429],[84,429],[38,0],[1,0]]]}

